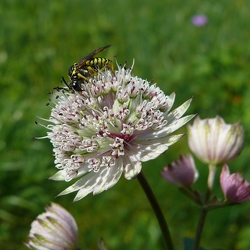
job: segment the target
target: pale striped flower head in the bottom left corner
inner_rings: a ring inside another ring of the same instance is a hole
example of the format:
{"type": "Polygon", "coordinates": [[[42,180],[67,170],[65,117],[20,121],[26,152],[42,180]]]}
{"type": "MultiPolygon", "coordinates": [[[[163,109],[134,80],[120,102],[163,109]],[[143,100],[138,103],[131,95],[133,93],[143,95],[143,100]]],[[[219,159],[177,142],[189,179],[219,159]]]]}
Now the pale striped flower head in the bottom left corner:
{"type": "Polygon", "coordinates": [[[26,246],[38,250],[76,249],[78,229],[72,215],[56,203],[45,210],[32,222],[26,246]]]}

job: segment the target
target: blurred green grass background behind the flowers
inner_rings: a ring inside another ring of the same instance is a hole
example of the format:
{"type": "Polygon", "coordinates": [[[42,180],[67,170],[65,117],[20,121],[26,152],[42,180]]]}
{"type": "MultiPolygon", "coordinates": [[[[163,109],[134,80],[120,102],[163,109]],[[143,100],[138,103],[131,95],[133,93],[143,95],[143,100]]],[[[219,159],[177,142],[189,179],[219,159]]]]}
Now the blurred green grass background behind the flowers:
{"type": "MultiPolygon", "coordinates": [[[[92,50],[112,44],[102,56],[119,63],[135,59],[133,73],[154,81],[175,107],[193,97],[188,113],[240,121],[246,146],[230,165],[250,180],[250,2],[163,0],[2,0],[0,3],[0,249],[26,249],[31,222],[50,201],[68,209],[79,226],[82,249],[163,249],[156,219],[137,180],[124,177],[108,192],[72,203],[55,196],[69,184],[56,172],[52,146],[35,124],[48,118],[48,92],[67,77],[69,66],[92,50]],[[208,24],[195,27],[196,14],[208,24]]],[[[185,132],[186,129],[180,130],[185,132]]],[[[170,225],[176,249],[194,237],[199,209],[159,172],[189,152],[182,138],[143,170],[170,225]]],[[[198,163],[196,188],[205,189],[207,167],[198,163]]],[[[216,177],[215,192],[222,198],[216,177]]],[[[201,244],[206,249],[250,249],[250,202],[212,211],[201,244]]]]}

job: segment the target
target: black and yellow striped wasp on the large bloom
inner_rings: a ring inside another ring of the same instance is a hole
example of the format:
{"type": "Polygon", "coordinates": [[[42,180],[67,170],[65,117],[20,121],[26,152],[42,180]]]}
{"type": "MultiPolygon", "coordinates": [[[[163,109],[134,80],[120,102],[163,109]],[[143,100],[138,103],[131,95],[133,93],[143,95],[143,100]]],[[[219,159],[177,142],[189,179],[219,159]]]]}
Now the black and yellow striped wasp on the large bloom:
{"type": "Polygon", "coordinates": [[[62,81],[68,86],[70,91],[82,91],[82,84],[87,83],[91,77],[105,69],[109,69],[112,74],[114,74],[114,65],[111,60],[104,57],[94,57],[110,46],[111,45],[106,45],[92,51],[89,55],[85,56],[78,63],[74,63],[69,68],[68,76],[71,82],[67,84],[64,78],[62,78],[62,81]]]}

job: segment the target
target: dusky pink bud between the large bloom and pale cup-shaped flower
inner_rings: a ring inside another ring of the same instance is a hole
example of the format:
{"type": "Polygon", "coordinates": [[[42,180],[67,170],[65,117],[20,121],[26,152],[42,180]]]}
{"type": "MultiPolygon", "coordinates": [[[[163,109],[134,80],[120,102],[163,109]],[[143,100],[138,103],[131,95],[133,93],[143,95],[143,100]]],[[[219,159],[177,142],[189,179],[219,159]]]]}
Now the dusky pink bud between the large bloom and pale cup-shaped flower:
{"type": "Polygon", "coordinates": [[[199,176],[191,154],[180,155],[179,160],[163,168],[161,175],[167,182],[185,187],[191,186],[199,176]]]}

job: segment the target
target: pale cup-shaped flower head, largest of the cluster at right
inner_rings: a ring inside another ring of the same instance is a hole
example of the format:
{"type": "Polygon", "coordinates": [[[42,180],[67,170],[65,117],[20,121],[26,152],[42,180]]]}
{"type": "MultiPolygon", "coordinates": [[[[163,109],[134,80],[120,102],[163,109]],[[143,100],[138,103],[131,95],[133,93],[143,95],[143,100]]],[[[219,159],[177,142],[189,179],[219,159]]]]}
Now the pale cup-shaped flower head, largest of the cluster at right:
{"type": "Polygon", "coordinates": [[[204,120],[197,117],[193,126],[188,126],[189,147],[205,163],[216,165],[233,160],[241,152],[243,142],[242,126],[226,124],[219,116],[204,120]]]}

